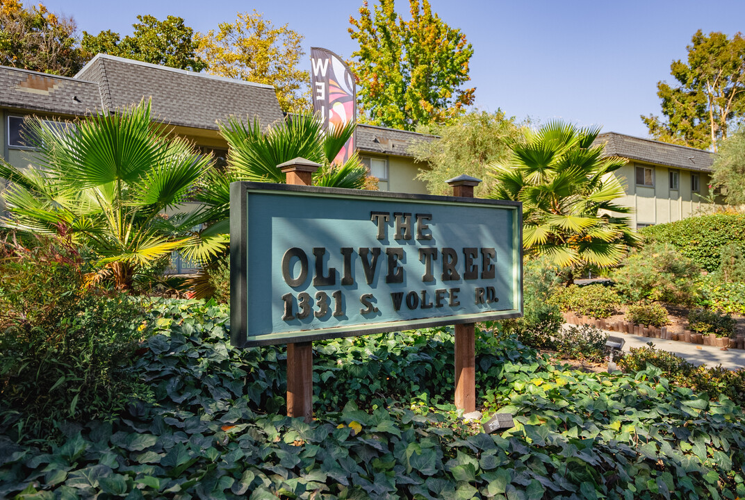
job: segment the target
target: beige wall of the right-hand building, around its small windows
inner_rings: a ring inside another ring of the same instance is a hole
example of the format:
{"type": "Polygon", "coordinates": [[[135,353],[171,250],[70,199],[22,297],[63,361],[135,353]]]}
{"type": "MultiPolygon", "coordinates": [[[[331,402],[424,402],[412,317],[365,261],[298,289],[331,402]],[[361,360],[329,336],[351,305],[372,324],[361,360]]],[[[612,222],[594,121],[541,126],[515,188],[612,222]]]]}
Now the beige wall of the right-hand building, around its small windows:
{"type": "MultiPolygon", "coordinates": [[[[700,213],[713,208],[704,198],[708,196],[710,175],[706,172],[671,169],[660,165],[631,161],[616,170],[615,175],[626,186],[627,195],[618,199],[619,205],[634,209],[630,214],[632,226],[638,224],[664,224],[700,213]],[[636,167],[654,169],[654,186],[636,185],[636,167]],[[679,172],[678,190],[670,188],[670,171],[679,172]],[[691,191],[691,173],[699,174],[700,192],[691,191]]],[[[720,199],[717,199],[720,202],[720,199]]]]}

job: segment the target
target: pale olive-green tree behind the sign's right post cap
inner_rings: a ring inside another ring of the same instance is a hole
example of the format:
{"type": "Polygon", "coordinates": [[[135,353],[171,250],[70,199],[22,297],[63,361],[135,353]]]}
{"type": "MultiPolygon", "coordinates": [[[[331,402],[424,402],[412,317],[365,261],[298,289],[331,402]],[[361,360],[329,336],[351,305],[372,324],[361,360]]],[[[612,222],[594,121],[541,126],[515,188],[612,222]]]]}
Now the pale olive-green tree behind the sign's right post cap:
{"type": "Polygon", "coordinates": [[[449,194],[445,181],[465,173],[482,179],[475,195],[492,190],[495,180],[487,175],[488,165],[505,161],[510,155],[510,143],[522,135],[515,118],[504,112],[474,111],[459,116],[448,125],[419,126],[417,132],[439,136],[435,141],[418,141],[410,148],[416,161],[431,168],[422,168],[417,179],[427,182],[432,194],[449,194]]]}

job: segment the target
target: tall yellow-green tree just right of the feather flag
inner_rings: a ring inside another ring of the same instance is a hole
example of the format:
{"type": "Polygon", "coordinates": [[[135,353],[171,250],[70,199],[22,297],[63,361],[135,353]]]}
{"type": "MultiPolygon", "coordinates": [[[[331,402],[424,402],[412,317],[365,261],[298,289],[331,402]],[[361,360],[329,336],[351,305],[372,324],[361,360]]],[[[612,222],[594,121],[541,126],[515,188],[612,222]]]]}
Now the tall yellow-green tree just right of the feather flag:
{"type": "Polygon", "coordinates": [[[432,13],[428,0],[409,0],[408,22],[393,1],[380,0],[373,14],[364,0],[360,18],[349,18],[360,46],[350,67],[360,84],[361,118],[405,130],[451,121],[474,100],[475,88],[460,88],[470,80],[473,48],[432,13]]]}

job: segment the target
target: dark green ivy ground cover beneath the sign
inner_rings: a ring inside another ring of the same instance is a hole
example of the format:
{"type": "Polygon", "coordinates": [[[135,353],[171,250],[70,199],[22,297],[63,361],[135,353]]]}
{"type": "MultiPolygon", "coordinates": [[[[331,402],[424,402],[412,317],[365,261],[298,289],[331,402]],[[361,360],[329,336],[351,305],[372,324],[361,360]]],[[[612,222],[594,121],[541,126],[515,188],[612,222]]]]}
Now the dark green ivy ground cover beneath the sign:
{"type": "Polygon", "coordinates": [[[155,307],[133,370],[152,388],[109,422],[0,436],[0,498],[735,499],[741,408],[647,368],[585,374],[480,332],[486,435],[459,420],[446,329],[314,344],[316,420],[282,416],[285,353],[235,350],[227,311],[155,307]]]}

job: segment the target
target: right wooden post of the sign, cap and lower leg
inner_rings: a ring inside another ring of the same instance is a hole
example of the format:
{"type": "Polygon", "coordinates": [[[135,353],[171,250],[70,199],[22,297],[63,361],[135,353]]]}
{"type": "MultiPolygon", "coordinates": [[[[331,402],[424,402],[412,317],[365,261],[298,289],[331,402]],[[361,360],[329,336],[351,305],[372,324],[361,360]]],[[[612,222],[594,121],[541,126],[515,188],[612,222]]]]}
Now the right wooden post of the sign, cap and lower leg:
{"type": "MultiPolygon", "coordinates": [[[[453,196],[473,198],[473,188],[481,179],[457,176],[449,181],[453,196]]],[[[455,325],[455,408],[463,413],[476,411],[476,336],[474,323],[455,325]]]]}

